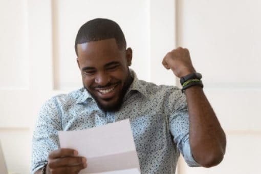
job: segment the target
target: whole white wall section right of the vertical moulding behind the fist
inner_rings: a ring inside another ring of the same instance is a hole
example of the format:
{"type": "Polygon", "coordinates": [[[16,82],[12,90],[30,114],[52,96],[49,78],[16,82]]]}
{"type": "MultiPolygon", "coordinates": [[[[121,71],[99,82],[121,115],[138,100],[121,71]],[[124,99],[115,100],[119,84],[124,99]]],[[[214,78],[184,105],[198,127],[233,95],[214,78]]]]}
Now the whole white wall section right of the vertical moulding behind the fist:
{"type": "Polygon", "coordinates": [[[177,1],[177,44],[189,48],[227,135],[223,162],[181,173],[260,173],[261,2],[177,1]],[[259,171],[259,172],[258,172],[259,171]]]}

